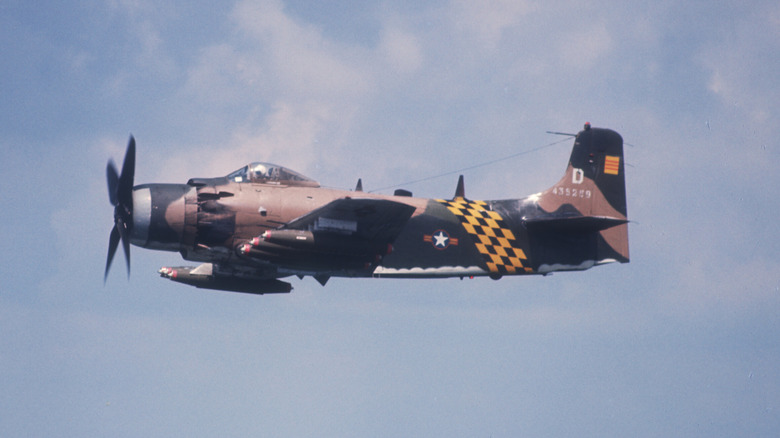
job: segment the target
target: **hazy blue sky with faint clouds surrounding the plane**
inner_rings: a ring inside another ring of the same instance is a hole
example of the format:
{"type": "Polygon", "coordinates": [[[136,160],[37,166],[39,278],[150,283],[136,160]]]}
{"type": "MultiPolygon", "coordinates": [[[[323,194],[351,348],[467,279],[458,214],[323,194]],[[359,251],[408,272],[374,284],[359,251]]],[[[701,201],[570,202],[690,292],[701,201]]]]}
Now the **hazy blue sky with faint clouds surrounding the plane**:
{"type": "Polygon", "coordinates": [[[6,0],[0,47],[2,436],[780,433],[777,2],[6,0]],[[130,134],[136,184],[506,199],[585,122],[626,142],[629,264],[253,296],[134,247],[103,284],[130,134]]]}

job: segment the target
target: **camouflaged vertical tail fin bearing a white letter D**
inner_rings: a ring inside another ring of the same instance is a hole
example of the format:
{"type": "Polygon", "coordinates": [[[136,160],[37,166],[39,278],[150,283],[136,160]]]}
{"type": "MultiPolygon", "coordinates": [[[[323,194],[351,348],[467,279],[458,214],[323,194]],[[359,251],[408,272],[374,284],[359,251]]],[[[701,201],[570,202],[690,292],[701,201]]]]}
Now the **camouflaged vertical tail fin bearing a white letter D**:
{"type": "Polygon", "coordinates": [[[596,263],[627,263],[623,138],[615,131],[586,124],[574,141],[566,173],[542,192],[545,214],[527,221],[529,231],[550,235],[593,234],[586,252],[596,263]],[[596,235],[597,234],[597,235],[596,235]]]}

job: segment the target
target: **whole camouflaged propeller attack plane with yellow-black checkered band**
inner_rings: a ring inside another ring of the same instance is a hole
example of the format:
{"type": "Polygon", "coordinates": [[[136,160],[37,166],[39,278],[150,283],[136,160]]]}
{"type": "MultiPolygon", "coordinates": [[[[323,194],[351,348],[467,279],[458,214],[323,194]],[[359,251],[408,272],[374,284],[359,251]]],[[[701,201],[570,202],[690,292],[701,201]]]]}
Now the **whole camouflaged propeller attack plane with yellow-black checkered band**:
{"type": "Polygon", "coordinates": [[[160,269],[199,288],[255,294],[292,290],[279,280],[312,276],[441,278],[548,274],[627,263],[623,139],[589,124],[566,173],[522,199],[452,199],[320,187],[290,169],[252,163],[186,184],[133,186],[135,140],[122,173],[106,173],[115,225],[104,281],[119,243],[179,252],[197,267],[160,269]]]}

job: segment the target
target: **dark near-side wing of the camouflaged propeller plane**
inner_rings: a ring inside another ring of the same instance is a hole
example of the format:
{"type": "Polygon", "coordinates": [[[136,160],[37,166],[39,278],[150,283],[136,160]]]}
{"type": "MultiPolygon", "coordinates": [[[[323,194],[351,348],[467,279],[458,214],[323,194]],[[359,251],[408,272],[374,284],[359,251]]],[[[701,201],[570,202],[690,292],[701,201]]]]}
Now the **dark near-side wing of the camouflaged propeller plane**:
{"type": "Polygon", "coordinates": [[[415,207],[372,198],[341,198],[288,222],[281,229],[329,232],[373,243],[391,243],[415,207]]]}

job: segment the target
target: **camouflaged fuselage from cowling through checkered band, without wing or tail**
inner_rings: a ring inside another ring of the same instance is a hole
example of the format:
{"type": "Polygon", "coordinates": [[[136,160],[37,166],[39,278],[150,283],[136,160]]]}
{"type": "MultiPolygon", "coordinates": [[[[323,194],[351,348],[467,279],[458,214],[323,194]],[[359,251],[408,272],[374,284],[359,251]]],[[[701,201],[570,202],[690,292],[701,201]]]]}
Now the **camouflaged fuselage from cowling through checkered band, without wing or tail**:
{"type": "MultiPolygon", "coordinates": [[[[148,249],[179,252],[186,260],[274,269],[280,276],[497,278],[544,269],[539,263],[544,260],[529,259],[533,239],[524,226],[524,221],[545,213],[535,196],[501,201],[443,200],[239,183],[226,178],[200,181],[136,186],[131,242],[148,249]],[[316,251],[263,260],[239,251],[266,231],[345,198],[382,199],[414,209],[392,242],[392,249],[378,254],[375,263],[343,263],[333,254],[320,256],[316,251]]],[[[577,260],[573,257],[573,264],[563,265],[590,267],[580,266],[577,260]]]]}

